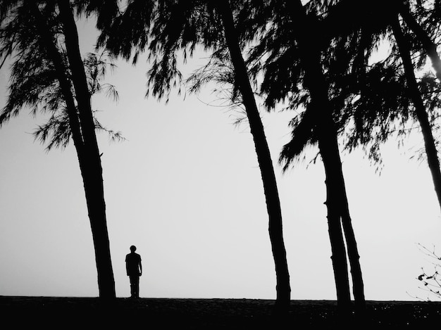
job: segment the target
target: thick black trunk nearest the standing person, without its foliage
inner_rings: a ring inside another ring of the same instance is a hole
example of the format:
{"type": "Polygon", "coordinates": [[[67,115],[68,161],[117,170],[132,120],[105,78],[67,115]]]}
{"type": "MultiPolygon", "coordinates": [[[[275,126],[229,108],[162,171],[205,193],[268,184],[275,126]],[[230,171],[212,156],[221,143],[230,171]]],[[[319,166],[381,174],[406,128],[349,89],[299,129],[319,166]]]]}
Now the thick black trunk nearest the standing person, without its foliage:
{"type": "Polygon", "coordinates": [[[104,184],[101,158],[95,134],[94,118],[87,87],[87,77],[82,63],[77,27],[69,0],[59,0],[58,8],[63,23],[63,33],[70,72],[78,104],[78,113],[85,145],[85,158],[82,160],[82,177],[85,187],[87,210],[97,263],[100,298],[115,298],[115,280],[111,262],[110,243],[106,221],[106,203],[104,202],[104,184]]]}

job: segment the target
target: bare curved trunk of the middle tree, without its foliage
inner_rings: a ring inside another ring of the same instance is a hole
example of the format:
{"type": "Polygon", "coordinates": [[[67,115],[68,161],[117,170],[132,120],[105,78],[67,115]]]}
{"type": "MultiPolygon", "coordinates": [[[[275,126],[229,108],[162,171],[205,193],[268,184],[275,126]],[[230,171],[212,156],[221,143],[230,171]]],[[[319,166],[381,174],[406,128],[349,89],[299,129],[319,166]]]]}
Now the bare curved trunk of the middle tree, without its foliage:
{"type": "Polygon", "coordinates": [[[249,82],[247,66],[244,63],[242,52],[235,30],[235,24],[232,17],[232,11],[228,0],[218,1],[216,4],[218,13],[221,15],[225,40],[230,51],[230,57],[235,69],[235,77],[240,86],[249,127],[254,139],[257,159],[261,170],[263,181],[263,190],[266,197],[266,208],[269,216],[269,235],[271,247],[273,249],[273,258],[275,262],[276,274],[276,310],[286,312],[290,305],[290,274],[288,272],[285,243],[282,235],[282,212],[280,210],[280,199],[278,195],[277,183],[271,153],[268,148],[263,125],[256,106],[256,100],[249,82]]]}

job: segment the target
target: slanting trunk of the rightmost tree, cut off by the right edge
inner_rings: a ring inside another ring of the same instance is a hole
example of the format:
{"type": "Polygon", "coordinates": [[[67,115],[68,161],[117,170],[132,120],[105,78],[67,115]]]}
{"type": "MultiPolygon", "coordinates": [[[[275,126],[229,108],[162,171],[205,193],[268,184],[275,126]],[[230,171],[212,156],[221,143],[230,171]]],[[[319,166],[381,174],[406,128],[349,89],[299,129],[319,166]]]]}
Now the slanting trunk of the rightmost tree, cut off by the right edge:
{"type": "Polygon", "coordinates": [[[435,186],[435,192],[437,194],[438,203],[440,203],[441,208],[441,170],[440,170],[440,160],[437,156],[437,149],[435,145],[435,139],[433,138],[432,128],[430,127],[430,122],[426,108],[424,107],[423,99],[421,98],[421,93],[418,89],[418,84],[416,83],[416,77],[414,72],[414,65],[411,60],[411,53],[409,45],[404,38],[401,26],[399,25],[398,17],[392,22],[392,30],[397,41],[399,48],[399,53],[402,58],[404,75],[406,76],[407,89],[411,95],[411,99],[415,106],[416,118],[421,127],[421,132],[423,133],[424,146],[426,148],[427,161],[432,174],[433,184],[435,186]]]}

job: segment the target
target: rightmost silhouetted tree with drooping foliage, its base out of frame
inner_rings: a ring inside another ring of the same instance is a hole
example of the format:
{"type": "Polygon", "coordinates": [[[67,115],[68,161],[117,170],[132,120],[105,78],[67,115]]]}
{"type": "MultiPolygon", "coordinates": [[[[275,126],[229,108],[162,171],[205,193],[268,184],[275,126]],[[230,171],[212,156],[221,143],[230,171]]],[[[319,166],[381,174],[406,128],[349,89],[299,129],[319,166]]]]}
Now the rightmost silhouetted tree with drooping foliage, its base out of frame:
{"type": "MultiPolygon", "coordinates": [[[[434,41],[439,37],[437,30],[439,19],[440,2],[436,0],[416,1],[416,5],[414,6],[411,6],[410,1],[407,0],[387,1],[387,3],[379,0],[357,2],[341,0],[328,11],[327,17],[322,20],[323,31],[326,31],[325,37],[322,39],[324,41],[329,40],[336,35],[352,39],[354,43],[354,49],[352,49],[352,51],[354,51],[354,53],[348,58],[347,69],[351,70],[350,67],[352,66],[353,77],[345,82],[346,84],[351,82],[352,87],[340,86],[340,88],[352,89],[352,91],[354,91],[354,87],[358,88],[359,96],[364,99],[364,102],[368,100],[368,96],[373,96],[370,91],[363,86],[367,78],[366,75],[368,74],[368,72],[366,72],[366,68],[368,67],[367,61],[371,56],[372,50],[375,49],[375,45],[378,45],[378,42],[381,40],[386,40],[390,42],[390,44],[397,46],[399,56],[392,54],[384,63],[390,62],[388,65],[392,65],[395,70],[401,70],[399,67],[403,65],[404,76],[406,77],[406,87],[404,87],[404,85],[403,87],[409,91],[409,96],[400,96],[404,101],[399,104],[399,107],[404,110],[403,115],[401,116],[397,110],[391,109],[392,115],[390,115],[389,119],[392,121],[383,121],[377,128],[381,131],[381,140],[385,141],[390,133],[395,131],[395,129],[391,129],[391,132],[387,132],[388,129],[395,124],[393,122],[394,119],[402,119],[402,124],[406,122],[408,118],[408,113],[406,113],[408,105],[405,104],[406,101],[410,100],[414,103],[415,118],[421,127],[428,166],[432,174],[435,192],[441,208],[440,161],[437,157],[435,139],[431,132],[432,129],[427,120],[428,110],[425,110],[422,104],[424,103],[424,100],[421,101],[423,96],[421,95],[421,91],[418,91],[418,87],[416,87],[417,83],[414,73],[414,70],[421,68],[421,66],[426,63],[426,56],[428,56],[438,80],[441,78],[441,59],[437,54],[437,46],[434,41]],[[379,10],[379,8],[381,8],[381,10],[379,10]],[[412,13],[412,8],[414,13],[412,13]],[[375,17],[375,20],[372,19],[373,17],[375,17]],[[418,20],[421,21],[421,23],[418,22],[418,20]],[[409,56],[410,58],[418,58],[418,61],[413,63],[412,59],[409,60],[409,56]],[[354,61],[349,63],[350,59],[354,59],[354,61]],[[401,61],[402,64],[399,64],[399,61],[401,61]]],[[[378,68],[379,66],[375,67],[375,69],[378,68]]],[[[337,75],[348,77],[346,72],[341,71],[338,72],[337,75]]],[[[395,82],[398,82],[398,80],[400,80],[399,77],[395,79],[395,82]]],[[[375,83],[383,84],[383,82],[379,80],[375,83]]],[[[393,85],[395,86],[390,85],[390,87],[395,88],[397,86],[396,84],[393,85]]],[[[351,92],[349,94],[352,94],[352,96],[349,97],[354,99],[354,93],[351,92]]],[[[386,95],[384,96],[387,97],[386,95]]],[[[344,97],[342,97],[342,99],[344,99],[344,97]]],[[[362,102],[358,103],[361,104],[362,102]]],[[[350,104],[347,108],[354,109],[355,107],[350,104]]],[[[375,111],[378,114],[385,113],[385,111],[380,108],[375,111]]],[[[361,114],[363,112],[353,112],[354,115],[357,113],[361,114]]],[[[373,111],[369,110],[369,113],[372,114],[373,111]]],[[[350,117],[351,115],[345,115],[345,120],[350,117]]],[[[375,116],[371,116],[372,120],[375,120],[374,118],[375,116]]],[[[363,119],[356,118],[355,120],[360,122],[363,119]]],[[[403,129],[401,129],[401,132],[403,132],[403,129]]],[[[360,137],[361,135],[358,136],[360,137]]],[[[366,142],[370,142],[373,139],[375,139],[373,136],[364,139],[361,144],[366,144],[366,142]]],[[[349,141],[351,148],[354,146],[354,141],[354,138],[351,138],[349,141]]],[[[373,149],[373,157],[375,160],[380,160],[377,142],[378,141],[375,142],[376,145],[373,149]]]]}

